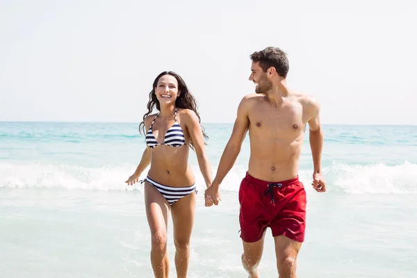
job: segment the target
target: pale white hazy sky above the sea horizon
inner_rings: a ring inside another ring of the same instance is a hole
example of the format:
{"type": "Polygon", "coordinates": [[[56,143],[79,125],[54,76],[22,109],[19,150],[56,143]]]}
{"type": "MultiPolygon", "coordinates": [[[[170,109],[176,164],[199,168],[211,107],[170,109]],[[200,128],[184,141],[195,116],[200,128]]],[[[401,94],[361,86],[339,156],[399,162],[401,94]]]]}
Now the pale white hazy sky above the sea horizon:
{"type": "Polygon", "coordinates": [[[250,54],[286,51],[323,124],[417,124],[416,1],[0,1],[0,121],[141,122],[180,74],[202,122],[254,92],[250,54]],[[414,34],[414,35],[413,35],[414,34]]]}

